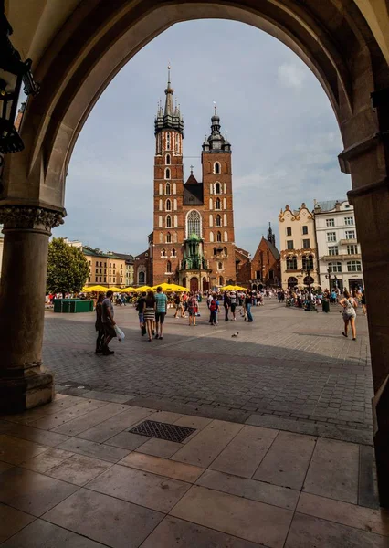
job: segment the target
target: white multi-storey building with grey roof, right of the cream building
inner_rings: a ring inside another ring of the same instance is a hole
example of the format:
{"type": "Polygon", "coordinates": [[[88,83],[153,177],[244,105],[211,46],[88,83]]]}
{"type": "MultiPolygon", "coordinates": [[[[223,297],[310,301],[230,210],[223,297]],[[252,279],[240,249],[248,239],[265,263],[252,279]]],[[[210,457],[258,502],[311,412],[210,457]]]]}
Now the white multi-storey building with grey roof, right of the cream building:
{"type": "Polygon", "coordinates": [[[361,246],[352,205],[347,200],[319,202],[314,214],[321,288],[363,287],[361,246]]]}

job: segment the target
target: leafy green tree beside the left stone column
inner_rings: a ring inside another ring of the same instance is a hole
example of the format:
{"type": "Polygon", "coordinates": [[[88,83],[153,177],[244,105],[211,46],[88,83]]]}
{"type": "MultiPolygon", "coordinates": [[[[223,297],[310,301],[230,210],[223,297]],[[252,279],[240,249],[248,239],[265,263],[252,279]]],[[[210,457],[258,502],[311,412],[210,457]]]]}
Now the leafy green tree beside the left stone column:
{"type": "Polygon", "coordinates": [[[61,237],[48,244],[47,291],[77,293],[89,278],[88,261],[79,248],[71,248],[61,237]]]}

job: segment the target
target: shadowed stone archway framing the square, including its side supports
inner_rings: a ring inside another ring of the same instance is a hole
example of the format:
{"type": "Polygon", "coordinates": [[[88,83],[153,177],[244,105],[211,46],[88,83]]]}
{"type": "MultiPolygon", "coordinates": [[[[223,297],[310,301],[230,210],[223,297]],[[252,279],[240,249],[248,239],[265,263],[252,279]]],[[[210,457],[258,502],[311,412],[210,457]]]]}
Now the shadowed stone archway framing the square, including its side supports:
{"type": "Polygon", "coordinates": [[[295,51],[320,80],[339,123],[344,145],[339,161],[342,171],[352,175],[349,200],[369,300],[374,407],[381,400],[375,440],[384,467],[389,458],[389,318],[383,316],[380,297],[389,293],[389,144],[384,139],[389,128],[389,38],[384,3],[73,0],[60,9],[49,1],[31,4],[6,3],[6,15],[16,29],[14,46],[35,61],[41,92],[27,105],[21,129],[26,149],[6,158],[0,195],[0,222],[5,225],[1,406],[37,406],[52,395],[52,377],[41,364],[47,242],[51,228],[63,222],[68,162],[89,111],[121,67],[167,27],[204,17],[235,19],[265,30],[295,51]]]}

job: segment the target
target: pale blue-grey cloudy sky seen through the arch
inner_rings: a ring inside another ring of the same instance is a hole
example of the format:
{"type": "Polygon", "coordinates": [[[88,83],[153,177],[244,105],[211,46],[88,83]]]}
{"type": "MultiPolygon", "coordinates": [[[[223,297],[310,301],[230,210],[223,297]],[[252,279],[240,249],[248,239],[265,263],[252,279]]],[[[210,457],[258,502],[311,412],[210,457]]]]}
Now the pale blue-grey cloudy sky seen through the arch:
{"type": "Polygon", "coordinates": [[[121,69],[79,135],[66,183],[65,224],[55,237],[137,255],[152,232],[153,123],[164,102],[167,65],[184,116],[184,181],[194,165],[214,101],[232,145],[235,239],[255,253],[279,211],[351,189],[337,155],[342,138],[321,84],[276,38],[226,20],[176,24],[121,69]]]}

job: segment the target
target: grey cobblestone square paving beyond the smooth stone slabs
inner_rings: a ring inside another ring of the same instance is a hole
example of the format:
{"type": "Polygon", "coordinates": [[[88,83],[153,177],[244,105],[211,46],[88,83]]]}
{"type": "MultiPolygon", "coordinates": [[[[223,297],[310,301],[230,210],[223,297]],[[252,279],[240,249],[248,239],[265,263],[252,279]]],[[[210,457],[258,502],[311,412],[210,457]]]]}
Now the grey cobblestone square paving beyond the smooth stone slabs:
{"type": "Polygon", "coordinates": [[[287,309],[274,300],[254,322],[196,327],[165,322],[163,341],[141,337],[133,307],[115,307],[125,332],[112,356],[94,353],[94,314],[46,314],[44,362],[69,394],[97,390],[131,403],[370,443],[373,395],[367,321],[357,341],[342,337],[342,316],[287,309]],[[237,333],[237,337],[233,337],[237,333]],[[79,388],[82,386],[83,388],[79,388]],[[327,433],[327,434],[326,434],[327,433]]]}

